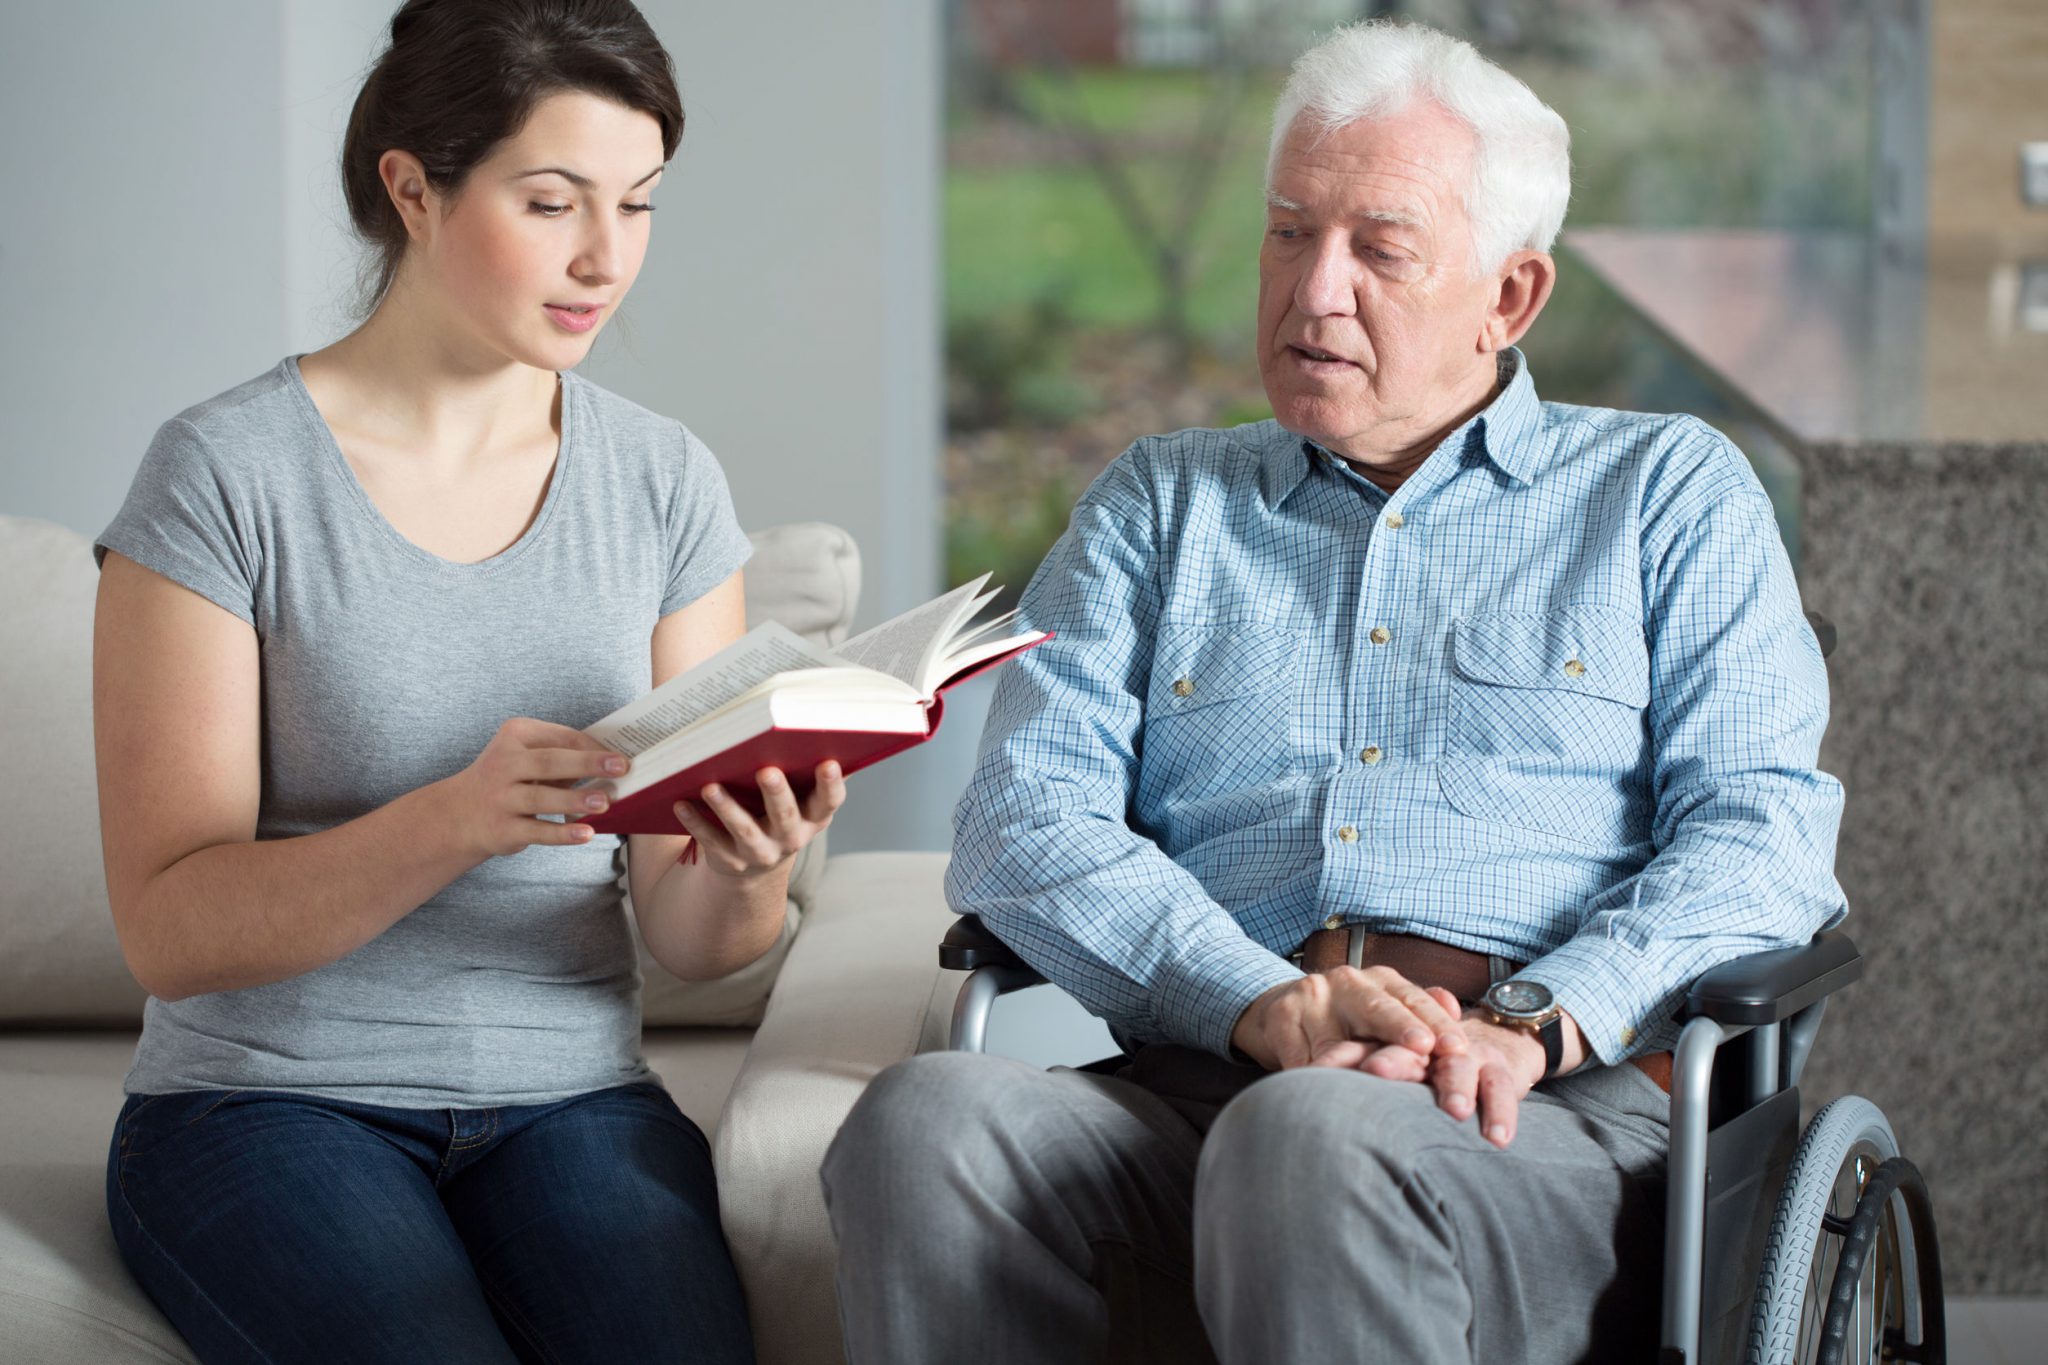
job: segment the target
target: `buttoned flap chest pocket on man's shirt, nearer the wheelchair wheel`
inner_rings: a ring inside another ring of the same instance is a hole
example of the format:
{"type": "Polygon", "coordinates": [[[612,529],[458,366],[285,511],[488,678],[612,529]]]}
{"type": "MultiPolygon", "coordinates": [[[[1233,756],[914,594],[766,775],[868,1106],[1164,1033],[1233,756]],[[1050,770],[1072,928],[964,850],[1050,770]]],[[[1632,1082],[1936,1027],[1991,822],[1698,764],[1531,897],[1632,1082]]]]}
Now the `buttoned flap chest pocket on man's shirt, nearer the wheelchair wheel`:
{"type": "Polygon", "coordinates": [[[1466,616],[1450,665],[1452,806],[1608,847],[1649,837],[1649,649],[1632,614],[1466,616]]]}

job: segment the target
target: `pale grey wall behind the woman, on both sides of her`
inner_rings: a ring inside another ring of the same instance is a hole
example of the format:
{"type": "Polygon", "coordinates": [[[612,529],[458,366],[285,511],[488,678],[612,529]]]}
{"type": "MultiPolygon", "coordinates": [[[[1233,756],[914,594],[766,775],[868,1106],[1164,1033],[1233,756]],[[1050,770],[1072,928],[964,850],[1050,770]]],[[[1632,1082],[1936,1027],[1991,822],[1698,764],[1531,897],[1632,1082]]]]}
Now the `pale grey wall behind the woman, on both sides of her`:
{"type": "MultiPolygon", "coordinates": [[[[346,329],[336,158],[395,0],[0,0],[0,512],[84,534],[178,409],[346,329]]],[[[645,0],[688,129],[582,366],[688,422],[741,522],[834,520],[862,624],[940,589],[934,0],[645,0]]],[[[836,847],[944,847],[977,706],[836,847]]]]}

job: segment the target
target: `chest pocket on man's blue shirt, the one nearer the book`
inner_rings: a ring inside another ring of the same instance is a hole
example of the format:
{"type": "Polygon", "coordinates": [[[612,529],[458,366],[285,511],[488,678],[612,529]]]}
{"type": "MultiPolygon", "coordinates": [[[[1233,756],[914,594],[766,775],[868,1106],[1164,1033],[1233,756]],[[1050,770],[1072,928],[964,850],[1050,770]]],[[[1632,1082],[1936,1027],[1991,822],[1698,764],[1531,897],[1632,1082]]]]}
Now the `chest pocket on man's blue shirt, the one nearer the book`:
{"type": "Polygon", "coordinates": [[[1161,632],[1145,696],[1149,796],[1194,800],[1286,769],[1296,643],[1262,622],[1161,632]]]}

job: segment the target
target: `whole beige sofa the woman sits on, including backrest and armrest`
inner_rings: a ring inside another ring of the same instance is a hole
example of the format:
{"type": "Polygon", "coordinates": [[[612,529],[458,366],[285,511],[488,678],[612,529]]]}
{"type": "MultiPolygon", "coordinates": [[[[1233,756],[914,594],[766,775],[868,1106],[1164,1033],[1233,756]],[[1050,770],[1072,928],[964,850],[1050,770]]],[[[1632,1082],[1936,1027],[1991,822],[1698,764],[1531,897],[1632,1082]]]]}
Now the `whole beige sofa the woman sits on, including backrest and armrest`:
{"type": "MultiPolygon", "coordinates": [[[[780,526],[754,544],[748,620],[844,639],[860,589],[846,532],[780,526]]],[[[193,1361],[106,1230],[106,1142],[143,993],[100,866],[96,579],[86,536],[0,516],[0,1359],[37,1365],[193,1361]]],[[[842,1359],[817,1164],[877,1070],[942,1046],[958,990],[936,962],[942,870],[938,853],[813,847],[762,962],[686,984],[643,956],[647,1060],[713,1134],[770,1365],[842,1359]]]]}

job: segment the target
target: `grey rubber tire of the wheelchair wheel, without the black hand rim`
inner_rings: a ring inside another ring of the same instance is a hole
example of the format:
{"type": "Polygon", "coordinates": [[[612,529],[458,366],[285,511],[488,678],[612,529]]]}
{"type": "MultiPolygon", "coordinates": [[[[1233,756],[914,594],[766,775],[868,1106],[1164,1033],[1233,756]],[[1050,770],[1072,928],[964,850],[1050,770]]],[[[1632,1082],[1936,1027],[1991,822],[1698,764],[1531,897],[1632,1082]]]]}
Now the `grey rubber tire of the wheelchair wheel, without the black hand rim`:
{"type": "MultiPolygon", "coordinates": [[[[1892,1126],[1860,1095],[1829,1103],[1806,1126],[1784,1189],[1778,1193],[1769,1242],[1763,1248],[1745,1357],[1749,1365],[1806,1365],[1817,1357],[1841,1252],[1841,1230],[1855,1214],[1864,1181],[1894,1156],[1898,1140],[1892,1136],[1892,1126]],[[1829,1222],[1835,1228],[1829,1228],[1829,1222]]],[[[1909,1334],[1917,1336],[1919,1275],[1911,1226],[1903,1228],[1901,1238],[1907,1242],[1905,1275],[1913,1279],[1903,1310],[1909,1334]]]]}

